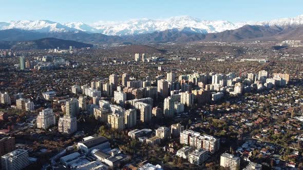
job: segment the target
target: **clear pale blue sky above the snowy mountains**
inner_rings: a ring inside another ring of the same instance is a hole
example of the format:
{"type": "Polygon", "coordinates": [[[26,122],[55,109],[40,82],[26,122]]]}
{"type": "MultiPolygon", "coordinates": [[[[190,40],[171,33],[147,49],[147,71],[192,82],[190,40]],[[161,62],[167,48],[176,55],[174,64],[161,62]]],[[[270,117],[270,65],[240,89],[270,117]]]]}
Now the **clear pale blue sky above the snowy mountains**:
{"type": "Polygon", "coordinates": [[[3,0],[0,4],[0,22],[48,19],[92,24],[99,20],[161,19],[180,15],[244,22],[303,14],[302,0],[3,0]]]}

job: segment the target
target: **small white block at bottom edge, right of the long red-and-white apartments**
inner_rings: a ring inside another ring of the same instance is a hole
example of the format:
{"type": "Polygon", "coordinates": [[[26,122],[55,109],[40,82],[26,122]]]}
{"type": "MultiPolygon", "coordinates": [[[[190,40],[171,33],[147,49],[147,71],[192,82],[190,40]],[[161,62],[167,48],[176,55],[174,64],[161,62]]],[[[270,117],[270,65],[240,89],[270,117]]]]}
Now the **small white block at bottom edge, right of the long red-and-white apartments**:
{"type": "Polygon", "coordinates": [[[229,170],[239,169],[240,158],[232,154],[223,153],[220,157],[220,166],[229,170]]]}

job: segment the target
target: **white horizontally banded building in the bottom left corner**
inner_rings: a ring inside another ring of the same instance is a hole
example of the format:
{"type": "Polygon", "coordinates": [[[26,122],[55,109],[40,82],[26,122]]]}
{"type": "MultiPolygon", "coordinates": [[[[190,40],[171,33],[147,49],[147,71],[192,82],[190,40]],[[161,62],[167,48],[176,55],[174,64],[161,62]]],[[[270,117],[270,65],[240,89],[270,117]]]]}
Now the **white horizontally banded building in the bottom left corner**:
{"type": "Polygon", "coordinates": [[[7,170],[20,170],[29,165],[28,152],[17,149],[1,157],[1,167],[7,170]]]}

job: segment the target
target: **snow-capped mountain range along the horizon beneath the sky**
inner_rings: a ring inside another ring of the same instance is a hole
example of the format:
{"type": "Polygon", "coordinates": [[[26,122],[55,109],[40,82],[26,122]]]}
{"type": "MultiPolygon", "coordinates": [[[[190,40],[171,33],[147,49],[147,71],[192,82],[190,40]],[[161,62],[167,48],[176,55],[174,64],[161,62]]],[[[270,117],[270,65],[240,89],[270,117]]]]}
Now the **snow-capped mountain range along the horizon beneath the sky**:
{"type": "Polygon", "coordinates": [[[127,22],[97,22],[87,25],[81,22],[60,24],[50,20],[18,20],[0,22],[0,30],[22,29],[36,32],[87,32],[102,33],[106,35],[133,35],[144,34],[168,29],[178,29],[197,33],[218,33],[225,30],[234,30],[246,24],[294,27],[303,25],[303,15],[293,18],[280,18],[264,22],[232,23],[226,20],[200,20],[190,16],[177,16],[168,19],[132,19],[127,22]]]}

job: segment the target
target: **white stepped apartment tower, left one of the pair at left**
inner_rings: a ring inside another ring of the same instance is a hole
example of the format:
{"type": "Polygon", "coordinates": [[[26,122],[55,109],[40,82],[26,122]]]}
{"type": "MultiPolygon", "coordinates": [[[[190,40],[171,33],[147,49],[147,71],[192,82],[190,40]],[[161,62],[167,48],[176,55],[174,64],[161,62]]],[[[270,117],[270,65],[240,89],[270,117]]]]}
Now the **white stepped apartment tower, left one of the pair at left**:
{"type": "Polygon", "coordinates": [[[37,128],[48,129],[50,126],[55,125],[55,115],[52,109],[44,109],[39,113],[36,119],[37,128]]]}

